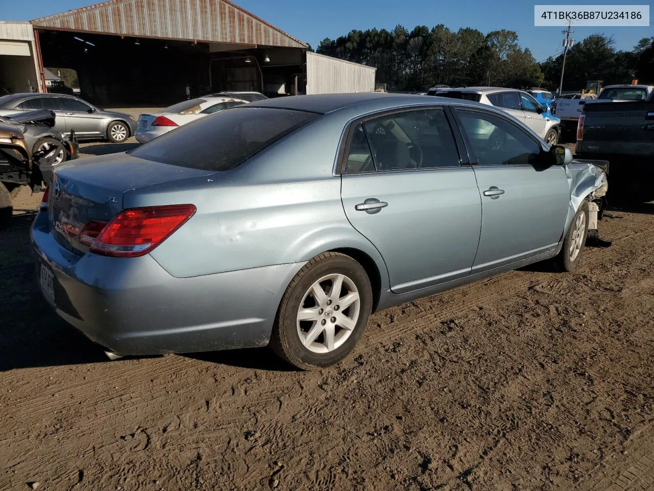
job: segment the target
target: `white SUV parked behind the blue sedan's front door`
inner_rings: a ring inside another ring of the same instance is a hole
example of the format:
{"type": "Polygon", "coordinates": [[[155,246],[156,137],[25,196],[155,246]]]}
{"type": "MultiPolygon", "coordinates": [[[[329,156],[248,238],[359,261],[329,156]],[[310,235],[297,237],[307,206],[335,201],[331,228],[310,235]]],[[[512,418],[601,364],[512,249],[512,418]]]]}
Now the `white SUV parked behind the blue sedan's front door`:
{"type": "MultiPolygon", "coordinates": [[[[431,92],[430,92],[430,95],[431,92]]],[[[464,87],[438,90],[436,97],[448,97],[493,105],[526,124],[550,147],[559,141],[560,119],[547,113],[533,96],[524,90],[501,87],[464,87]]]]}

